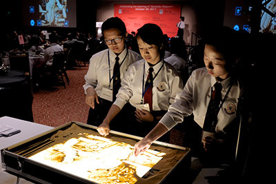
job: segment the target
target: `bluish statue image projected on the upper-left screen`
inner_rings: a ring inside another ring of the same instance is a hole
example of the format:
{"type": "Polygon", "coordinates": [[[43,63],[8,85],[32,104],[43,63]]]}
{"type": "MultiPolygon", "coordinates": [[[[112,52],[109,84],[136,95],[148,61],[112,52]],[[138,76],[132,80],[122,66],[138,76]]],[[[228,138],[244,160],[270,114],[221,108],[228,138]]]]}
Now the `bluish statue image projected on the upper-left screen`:
{"type": "Polygon", "coordinates": [[[41,0],[39,12],[44,26],[63,27],[67,17],[67,0],[41,0]]]}

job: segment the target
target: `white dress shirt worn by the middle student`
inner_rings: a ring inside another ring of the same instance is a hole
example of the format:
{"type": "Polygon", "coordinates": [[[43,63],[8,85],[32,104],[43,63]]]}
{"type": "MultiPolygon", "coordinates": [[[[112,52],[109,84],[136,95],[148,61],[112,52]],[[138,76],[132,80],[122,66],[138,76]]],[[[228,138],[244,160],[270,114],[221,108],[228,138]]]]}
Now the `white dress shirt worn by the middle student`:
{"type": "MultiPolygon", "coordinates": [[[[123,108],[128,101],[134,107],[140,104],[141,100],[144,102],[142,90],[148,76],[148,68],[150,65],[144,59],[130,65],[113,104],[123,108]]],[[[175,68],[165,61],[160,61],[153,66],[153,69],[152,110],[168,110],[176,94],[183,89],[181,77],[175,68]]]]}

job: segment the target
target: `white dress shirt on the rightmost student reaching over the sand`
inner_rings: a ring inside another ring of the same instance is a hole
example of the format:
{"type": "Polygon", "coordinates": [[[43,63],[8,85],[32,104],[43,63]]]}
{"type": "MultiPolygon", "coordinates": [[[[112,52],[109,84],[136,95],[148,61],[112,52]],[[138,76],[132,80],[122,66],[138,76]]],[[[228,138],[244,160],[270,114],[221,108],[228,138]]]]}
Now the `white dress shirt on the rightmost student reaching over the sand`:
{"type": "MultiPolygon", "coordinates": [[[[221,98],[224,99],[227,90],[230,88],[231,78],[228,77],[221,82],[221,98]]],[[[160,123],[164,124],[168,130],[174,127],[177,123],[181,123],[184,120],[184,116],[194,114],[195,122],[203,127],[208,103],[210,101],[211,87],[216,83],[214,76],[208,74],[206,68],[199,68],[191,74],[188,79],[184,90],[177,94],[175,97],[175,103],[170,105],[168,112],[160,120],[160,123]]],[[[230,127],[230,123],[237,117],[237,102],[240,94],[240,86],[235,81],[230,88],[230,92],[226,101],[224,101],[222,107],[217,114],[217,126],[216,132],[226,133],[227,127],[230,127]]]]}

